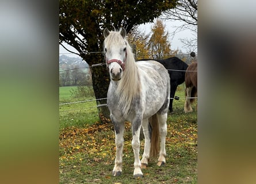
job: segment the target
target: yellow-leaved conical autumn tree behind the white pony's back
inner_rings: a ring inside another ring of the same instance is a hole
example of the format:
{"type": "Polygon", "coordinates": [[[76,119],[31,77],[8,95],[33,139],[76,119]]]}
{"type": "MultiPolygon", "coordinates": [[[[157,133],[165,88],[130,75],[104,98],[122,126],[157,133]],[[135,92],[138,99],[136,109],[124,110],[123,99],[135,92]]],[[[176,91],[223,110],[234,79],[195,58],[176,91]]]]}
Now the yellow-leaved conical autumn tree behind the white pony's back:
{"type": "Polygon", "coordinates": [[[160,19],[156,19],[151,28],[152,35],[148,42],[150,57],[154,59],[165,59],[174,56],[178,51],[171,51],[169,33],[165,31],[165,25],[160,19]]]}

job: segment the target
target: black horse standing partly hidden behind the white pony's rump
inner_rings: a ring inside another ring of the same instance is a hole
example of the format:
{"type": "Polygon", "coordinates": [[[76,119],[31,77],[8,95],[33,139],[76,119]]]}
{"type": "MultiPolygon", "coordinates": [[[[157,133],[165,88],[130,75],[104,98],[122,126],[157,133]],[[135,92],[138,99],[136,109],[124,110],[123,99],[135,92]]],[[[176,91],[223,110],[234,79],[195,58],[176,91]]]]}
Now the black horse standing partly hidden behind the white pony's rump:
{"type": "Polygon", "coordinates": [[[170,75],[171,92],[170,92],[170,105],[169,110],[173,112],[173,98],[178,85],[181,85],[185,81],[185,72],[188,68],[188,64],[179,59],[178,57],[169,57],[168,59],[141,59],[141,60],[155,60],[163,64],[168,70],[170,75]],[[182,70],[182,71],[175,71],[182,70]]]}

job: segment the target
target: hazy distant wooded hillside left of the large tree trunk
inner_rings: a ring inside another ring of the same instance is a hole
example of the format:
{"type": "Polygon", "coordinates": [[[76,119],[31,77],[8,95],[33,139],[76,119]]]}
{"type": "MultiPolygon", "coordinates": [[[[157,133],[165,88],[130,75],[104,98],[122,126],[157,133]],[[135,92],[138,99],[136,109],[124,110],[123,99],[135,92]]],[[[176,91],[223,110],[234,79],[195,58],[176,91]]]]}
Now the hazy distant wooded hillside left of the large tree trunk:
{"type": "Polygon", "coordinates": [[[89,67],[81,57],[68,57],[67,55],[59,56],[59,70],[68,70],[75,67],[89,67]]]}

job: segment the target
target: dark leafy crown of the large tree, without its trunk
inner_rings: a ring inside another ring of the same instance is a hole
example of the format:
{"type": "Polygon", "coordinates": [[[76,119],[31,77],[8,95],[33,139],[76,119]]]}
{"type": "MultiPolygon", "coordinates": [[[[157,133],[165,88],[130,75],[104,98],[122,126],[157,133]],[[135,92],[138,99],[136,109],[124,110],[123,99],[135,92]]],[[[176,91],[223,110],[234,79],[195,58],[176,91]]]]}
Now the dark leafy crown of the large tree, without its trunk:
{"type": "MultiPolygon", "coordinates": [[[[59,27],[60,43],[76,46],[80,51],[103,41],[102,28],[113,25],[129,32],[133,26],[152,22],[163,11],[177,4],[172,1],[98,1],[60,0],[59,27]],[[118,11],[117,11],[118,10],[118,11]],[[81,34],[83,37],[78,37],[81,34]]],[[[101,49],[101,48],[100,48],[101,49]]],[[[92,61],[91,61],[92,62],[92,61]]]]}

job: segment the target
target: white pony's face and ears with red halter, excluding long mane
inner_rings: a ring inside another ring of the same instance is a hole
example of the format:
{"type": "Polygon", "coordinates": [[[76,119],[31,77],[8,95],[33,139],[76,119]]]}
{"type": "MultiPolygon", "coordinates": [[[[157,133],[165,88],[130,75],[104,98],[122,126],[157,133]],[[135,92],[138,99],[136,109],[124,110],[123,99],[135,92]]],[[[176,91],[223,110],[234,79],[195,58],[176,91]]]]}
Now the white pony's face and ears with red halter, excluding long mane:
{"type": "Polygon", "coordinates": [[[104,29],[104,37],[104,52],[110,78],[113,81],[119,81],[125,70],[125,61],[127,59],[126,31],[121,28],[119,32],[110,32],[106,28],[104,29]]]}

